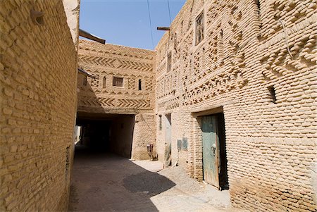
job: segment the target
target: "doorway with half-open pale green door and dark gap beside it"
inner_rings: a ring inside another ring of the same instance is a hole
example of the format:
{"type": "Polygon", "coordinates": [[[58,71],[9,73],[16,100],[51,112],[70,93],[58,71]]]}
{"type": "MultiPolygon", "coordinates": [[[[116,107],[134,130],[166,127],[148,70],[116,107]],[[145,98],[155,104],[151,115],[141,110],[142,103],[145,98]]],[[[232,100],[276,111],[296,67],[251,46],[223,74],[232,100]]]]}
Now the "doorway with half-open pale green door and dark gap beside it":
{"type": "Polygon", "coordinates": [[[229,189],[223,113],[201,116],[204,181],[220,190],[229,189]]]}

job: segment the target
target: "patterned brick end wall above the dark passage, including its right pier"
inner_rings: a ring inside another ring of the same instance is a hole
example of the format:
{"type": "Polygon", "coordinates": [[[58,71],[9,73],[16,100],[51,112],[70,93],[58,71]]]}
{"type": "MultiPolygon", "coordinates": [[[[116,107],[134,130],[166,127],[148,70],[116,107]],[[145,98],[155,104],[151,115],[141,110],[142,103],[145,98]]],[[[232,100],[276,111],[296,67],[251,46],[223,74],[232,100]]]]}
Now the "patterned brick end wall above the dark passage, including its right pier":
{"type": "Polygon", "coordinates": [[[155,56],[154,51],[80,40],[79,66],[93,77],[78,77],[77,111],[135,115],[132,159],[149,159],[147,144],[155,146],[155,56]],[[122,87],[113,86],[113,77],[123,78],[122,87]]]}

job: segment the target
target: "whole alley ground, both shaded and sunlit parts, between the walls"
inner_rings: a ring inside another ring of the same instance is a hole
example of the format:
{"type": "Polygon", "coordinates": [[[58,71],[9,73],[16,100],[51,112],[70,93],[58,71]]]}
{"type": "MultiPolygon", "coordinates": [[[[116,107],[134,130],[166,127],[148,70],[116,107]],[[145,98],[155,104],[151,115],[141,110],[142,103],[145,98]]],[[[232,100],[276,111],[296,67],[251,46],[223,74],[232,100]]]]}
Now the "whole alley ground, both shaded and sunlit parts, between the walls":
{"type": "Polygon", "coordinates": [[[220,192],[180,167],[77,147],[69,211],[240,211],[220,192]]]}

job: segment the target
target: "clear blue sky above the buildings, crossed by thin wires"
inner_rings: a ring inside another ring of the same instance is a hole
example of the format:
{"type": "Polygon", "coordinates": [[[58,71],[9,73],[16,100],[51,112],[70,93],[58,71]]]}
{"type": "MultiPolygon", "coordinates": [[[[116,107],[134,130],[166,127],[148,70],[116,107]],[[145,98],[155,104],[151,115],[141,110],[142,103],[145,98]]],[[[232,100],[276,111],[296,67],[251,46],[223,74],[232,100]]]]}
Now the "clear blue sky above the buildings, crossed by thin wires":
{"type": "MultiPolygon", "coordinates": [[[[186,0],[169,0],[173,21],[186,0]]],[[[149,0],[154,48],[168,27],[167,0],[149,0]]],[[[80,28],[106,39],[106,43],[153,49],[147,0],[81,0],[80,28]]]]}

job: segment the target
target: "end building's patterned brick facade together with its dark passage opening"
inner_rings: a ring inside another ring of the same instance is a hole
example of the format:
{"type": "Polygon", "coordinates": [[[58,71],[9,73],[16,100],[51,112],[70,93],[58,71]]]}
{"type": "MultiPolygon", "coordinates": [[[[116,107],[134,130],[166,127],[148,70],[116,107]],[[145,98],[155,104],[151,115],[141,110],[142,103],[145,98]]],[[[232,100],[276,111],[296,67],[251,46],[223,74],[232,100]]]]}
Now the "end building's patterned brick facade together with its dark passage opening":
{"type": "Polygon", "coordinates": [[[86,130],[83,142],[103,140],[105,149],[148,159],[147,145],[155,144],[156,135],[155,52],[80,40],[78,58],[80,68],[93,75],[78,76],[77,123],[86,130]],[[100,137],[89,136],[88,128],[101,122],[104,127],[94,132],[100,137]]]}

